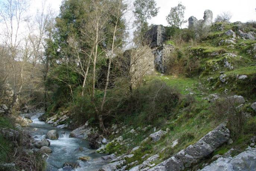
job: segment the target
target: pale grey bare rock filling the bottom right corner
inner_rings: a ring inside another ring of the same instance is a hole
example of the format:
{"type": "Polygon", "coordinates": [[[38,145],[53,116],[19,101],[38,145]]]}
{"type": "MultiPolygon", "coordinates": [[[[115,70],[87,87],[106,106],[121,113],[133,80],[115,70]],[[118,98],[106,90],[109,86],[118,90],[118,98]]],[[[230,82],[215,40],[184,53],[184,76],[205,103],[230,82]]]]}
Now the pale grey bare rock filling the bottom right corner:
{"type": "Polygon", "coordinates": [[[248,148],[235,157],[220,157],[201,171],[255,171],[256,148],[248,148]]]}

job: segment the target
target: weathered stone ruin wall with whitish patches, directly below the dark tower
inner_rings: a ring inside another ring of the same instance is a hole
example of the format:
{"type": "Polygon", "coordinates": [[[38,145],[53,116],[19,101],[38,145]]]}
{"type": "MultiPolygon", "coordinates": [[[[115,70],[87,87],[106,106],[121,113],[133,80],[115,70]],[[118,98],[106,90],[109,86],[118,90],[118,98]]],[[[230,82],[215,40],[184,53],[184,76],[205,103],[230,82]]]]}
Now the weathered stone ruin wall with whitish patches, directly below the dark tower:
{"type": "Polygon", "coordinates": [[[153,54],[155,56],[155,69],[162,73],[165,73],[167,70],[168,62],[173,56],[174,51],[175,46],[166,44],[162,44],[157,49],[153,50],[153,54]]]}

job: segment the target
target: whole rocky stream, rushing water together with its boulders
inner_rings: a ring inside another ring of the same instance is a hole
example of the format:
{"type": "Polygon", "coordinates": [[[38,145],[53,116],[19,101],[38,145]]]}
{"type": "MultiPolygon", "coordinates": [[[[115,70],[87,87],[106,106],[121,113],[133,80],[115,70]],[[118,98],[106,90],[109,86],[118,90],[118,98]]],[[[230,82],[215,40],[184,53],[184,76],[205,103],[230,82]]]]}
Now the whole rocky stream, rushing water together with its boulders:
{"type": "Polygon", "coordinates": [[[38,120],[43,113],[23,114],[30,117],[32,123],[25,129],[29,130],[37,146],[47,157],[48,171],[93,171],[105,164],[102,154],[89,148],[89,142],[77,138],[69,138],[70,131],[53,127],[38,120]],[[53,135],[57,134],[56,137],[53,135]],[[45,139],[46,138],[46,139],[45,139]],[[42,147],[43,146],[43,147],[42,147]]]}

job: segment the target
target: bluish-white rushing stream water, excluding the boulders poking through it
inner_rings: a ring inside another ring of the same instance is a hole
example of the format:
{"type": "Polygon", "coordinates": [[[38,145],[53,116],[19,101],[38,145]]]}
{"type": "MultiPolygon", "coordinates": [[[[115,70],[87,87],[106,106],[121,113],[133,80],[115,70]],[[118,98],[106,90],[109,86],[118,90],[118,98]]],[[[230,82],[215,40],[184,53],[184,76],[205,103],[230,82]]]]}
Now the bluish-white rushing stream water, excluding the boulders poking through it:
{"type": "Polygon", "coordinates": [[[46,133],[49,130],[56,129],[59,133],[59,139],[49,140],[52,153],[49,154],[47,159],[47,171],[62,171],[64,162],[76,162],[80,165],[76,171],[96,171],[105,164],[101,159],[102,155],[97,154],[95,150],[89,148],[89,143],[86,140],[80,140],[77,138],[69,138],[70,130],[60,129],[53,127],[45,122],[40,122],[38,117],[43,113],[24,114],[31,116],[33,123],[26,129],[31,132],[31,135],[35,140],[41,140],[45,138],[46,133]],[[83,148],[83,151],[79,151],[79,148],[83,148]],[[78,158],[82,156],[88,156],[90,161],[81,161],[78,158]]]}

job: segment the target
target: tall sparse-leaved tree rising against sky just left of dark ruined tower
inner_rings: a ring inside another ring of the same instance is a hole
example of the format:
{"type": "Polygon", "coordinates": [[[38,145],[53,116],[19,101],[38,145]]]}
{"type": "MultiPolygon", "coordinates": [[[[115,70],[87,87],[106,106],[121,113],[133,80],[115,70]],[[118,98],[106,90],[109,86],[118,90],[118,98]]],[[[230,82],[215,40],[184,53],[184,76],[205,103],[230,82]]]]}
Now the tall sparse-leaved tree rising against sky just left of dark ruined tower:
{"type": "Polygon", "coordinates": [[[148,30],[148,19],[157,16],[159,7],[155,0],[135,0],[133,2],[135,9],[133,14],[135,15],[134,25],[137,26],[135,35],[143,35],[148,30]]]}

